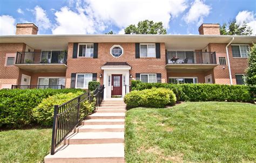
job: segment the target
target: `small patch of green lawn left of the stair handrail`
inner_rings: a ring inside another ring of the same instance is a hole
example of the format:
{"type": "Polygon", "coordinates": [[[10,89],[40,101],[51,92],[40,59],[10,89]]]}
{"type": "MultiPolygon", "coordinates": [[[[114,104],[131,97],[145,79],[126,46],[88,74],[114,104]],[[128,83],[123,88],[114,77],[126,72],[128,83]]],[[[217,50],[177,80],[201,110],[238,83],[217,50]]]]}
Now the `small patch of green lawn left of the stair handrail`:
{"type": "Polygon", "coordinates": [[[0,132],[0,162],[41,162],[50,152],[51,128],[0,132]]]}

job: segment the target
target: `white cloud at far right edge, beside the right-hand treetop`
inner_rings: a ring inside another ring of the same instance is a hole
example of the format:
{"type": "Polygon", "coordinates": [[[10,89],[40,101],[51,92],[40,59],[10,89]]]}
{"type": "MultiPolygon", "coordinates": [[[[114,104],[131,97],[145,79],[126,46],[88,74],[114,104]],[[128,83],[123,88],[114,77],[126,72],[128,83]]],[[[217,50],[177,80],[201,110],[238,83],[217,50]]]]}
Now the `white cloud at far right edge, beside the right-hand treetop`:
{"type": "Polygon", "coordinates": [[[235,21],[238,24],[246,22],[248,26],[252,28],[252,35],[256,35],[256,16],[253,11],[240,11],[235,17],[235,21]]]}

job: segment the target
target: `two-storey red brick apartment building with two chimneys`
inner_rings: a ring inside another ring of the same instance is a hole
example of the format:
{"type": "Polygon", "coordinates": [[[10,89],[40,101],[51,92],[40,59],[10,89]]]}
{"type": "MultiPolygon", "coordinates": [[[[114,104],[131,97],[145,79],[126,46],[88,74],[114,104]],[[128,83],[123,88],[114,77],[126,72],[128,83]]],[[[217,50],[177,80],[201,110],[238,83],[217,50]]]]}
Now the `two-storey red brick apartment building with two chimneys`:
{"type": "Polygon", "coordinates": [[[219,24],[200,35],[37,35],[17,24],[0,36],[0,89],[12,85],[105,85],[104,97],[124,96],[131,80],[148,83],[243,84],[256,36],[221,36],[219,24]]]}

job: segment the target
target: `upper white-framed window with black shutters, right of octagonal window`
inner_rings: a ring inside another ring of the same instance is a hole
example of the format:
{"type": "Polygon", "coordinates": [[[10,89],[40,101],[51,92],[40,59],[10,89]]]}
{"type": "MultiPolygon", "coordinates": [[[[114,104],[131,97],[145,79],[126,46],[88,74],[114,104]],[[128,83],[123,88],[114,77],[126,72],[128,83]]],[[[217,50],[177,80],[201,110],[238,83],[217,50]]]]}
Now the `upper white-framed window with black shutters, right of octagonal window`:
{"type": "Polygon", "coordinates": [[[156,57],[156,44],[140,44],[140,57],[156,57]]]}

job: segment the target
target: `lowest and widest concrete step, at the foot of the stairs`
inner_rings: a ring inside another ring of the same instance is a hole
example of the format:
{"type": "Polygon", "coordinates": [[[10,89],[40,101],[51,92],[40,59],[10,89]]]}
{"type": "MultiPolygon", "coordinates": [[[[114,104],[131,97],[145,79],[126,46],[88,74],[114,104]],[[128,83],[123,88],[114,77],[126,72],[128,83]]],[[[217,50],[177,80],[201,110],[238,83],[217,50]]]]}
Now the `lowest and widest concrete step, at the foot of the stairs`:
{"type": "Polygon", "coordinates": [[[124,162],[124,144],[82,144],[61,146],[54,155],[46,155],[48,162],[124,162]]]}

